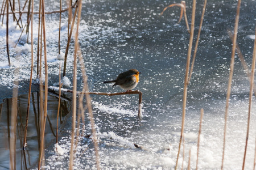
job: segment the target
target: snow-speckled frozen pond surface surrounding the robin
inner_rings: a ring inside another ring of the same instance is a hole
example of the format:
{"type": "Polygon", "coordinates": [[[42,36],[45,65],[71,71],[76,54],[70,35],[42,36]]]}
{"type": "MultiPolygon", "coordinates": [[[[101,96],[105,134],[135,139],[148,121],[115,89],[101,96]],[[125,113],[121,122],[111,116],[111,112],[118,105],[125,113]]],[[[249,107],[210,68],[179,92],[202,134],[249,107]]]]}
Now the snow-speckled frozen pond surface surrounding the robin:
{"type": "MultiPolygon", "coordinates": [[[[179,8],[173,7],[159,16],[167,1],[86,1],[83,3],[79,42],[86,64],[90,91],[121,92],[121,88],[102,84],[104,80],[129,69],[140,75],[136,90],[143,93],[143,117],[137,118],[138,96],[92,96],[96,121],[100,162],[102,169],[174,169],[179,147],[185,63],[189,34],[184,19],[179,20],[179,8]],[[135,145],[134,145],[135,144],[135,145]],[[139,148],[135,147],[139,146],[139,148]]],[[[190,23],[192,2],[187,2],[190,23]]],[[[203,2],[197,2],[195,35],[199,28],[203,2]]],[[[57,8],[56,4],[56,8],[57,8]]],[[[199,48],[191,83],[185,117],[185,157],[188,166],[191,150],[191,168],[196,168],[197,137],[200,109],[204,108],[201,132],[199,168],[220,169],[222,160],[226,90],[232,43],[227,29],[233,29],[237,1],[208,2],[201,31],[199,48]]],[[[47,7],[52,10],[54,5],[47,7]]],[[[253,55],[255,36],[255,1],[243,1],[240,12],[237,43],[249,67],[253,55]]],[[[35,20],[36,17],[35,17],[35,20]]],[[[47,57],[49,85],[58,86],[59,61],[57,40],[59,30],[57,14],[47,15],[47,57]]],[[[61,51],[67,43],[67,15],[63,15],[61,51]]],[[[16,41],[20,30],[14,25],[10,40],[16,41]]],[[[0,86],[1,99],[11,96],[14,69],[20,71],[20,94],[27,93],[30,75],[31,49],[26,44],[11,46],[8,66],[5,46],[5,26],[0,29],[0,86]]],[[[196,38],[195,38],[196,39],[196,38]]],[[[34,24],[34,42],[37,43],[34,24]]],[[[36,47],[35,47],[36,48],[36,47]]],[[[36,55],[34,55],[36,56],[36,55]]],[[[36,58],[36,57],[35,57],[36,58]]],[[[72,82],[73,41],[68,56],[67,78],[72,82]]],[[[228,131],[224,168],[241,169],[245,149],[247,112],[250,83],[236,56],[230,97],[228,131]]],[[[79,67],[80,69],[80,67],[79,67]]],[[[79,70],[78,69],[78,70],[79,70]]],[[[36,71],[36,67],[34,69],[36,71]]],[[[36,73],[36,72],[34,72],[36,73]]],[[[36,78],[36,74],[33,75],[36,78]]],[[[69,87],[71,89],[72,84],[69,87]]],[[[78,90],[82,89],[81,71],[78,73],[78,90]]],[[[36,90],[35,90],[36,91],[36,90]]],[[[251,111],[250,136],[247,148],[246,169],[253,169],[255,150],[255,99],[251,111]]],[[[71,117],[63,127],[59,139],[61,154],[55,146],[46,148],[46,169],[68,169],[71,147],[71,117]]],[[[80,131],[90,134],[89,121],[80,125],[80,131]],[[85,129],[83,130],[83,127],[85,129]]],[[[178,169],[182,166],[183,147],[178,169]]],[[[80,137],[75,154],[74,169],[96,169],[92,139],[80,137]]]]}

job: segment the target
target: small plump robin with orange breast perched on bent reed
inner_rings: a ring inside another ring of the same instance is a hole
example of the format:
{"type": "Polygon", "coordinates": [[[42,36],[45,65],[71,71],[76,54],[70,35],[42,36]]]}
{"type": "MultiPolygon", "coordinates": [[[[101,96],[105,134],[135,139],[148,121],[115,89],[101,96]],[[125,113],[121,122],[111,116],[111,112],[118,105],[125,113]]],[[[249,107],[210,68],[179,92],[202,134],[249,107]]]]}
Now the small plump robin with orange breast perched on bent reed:
{"type": "Polygon", "coordinates": [[[113,86],[119,85],[122,89],[129,91],[137,86],[139,82],[139,74],[141,73],[138,70],[131,69],[119,74],[117,79],[103,83],[114,83],[113,86]]]}

